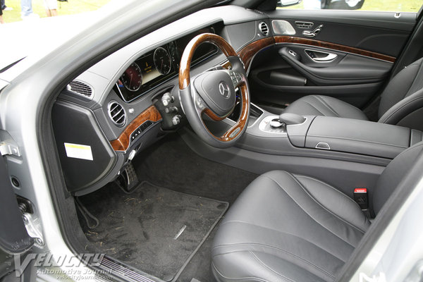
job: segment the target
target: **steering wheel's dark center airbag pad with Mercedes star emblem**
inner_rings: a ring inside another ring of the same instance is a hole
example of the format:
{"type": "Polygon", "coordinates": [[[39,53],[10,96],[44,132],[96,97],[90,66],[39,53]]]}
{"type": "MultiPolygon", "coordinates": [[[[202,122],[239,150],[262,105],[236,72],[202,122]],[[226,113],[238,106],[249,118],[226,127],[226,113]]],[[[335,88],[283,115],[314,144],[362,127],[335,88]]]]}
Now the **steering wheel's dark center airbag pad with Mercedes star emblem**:
{"type": "Polygon", "coordinates": [[[235,107],[235,87],[228,71],[202,73],[195,78],[194,87],[216,116],[227,116],[235,107]]]}

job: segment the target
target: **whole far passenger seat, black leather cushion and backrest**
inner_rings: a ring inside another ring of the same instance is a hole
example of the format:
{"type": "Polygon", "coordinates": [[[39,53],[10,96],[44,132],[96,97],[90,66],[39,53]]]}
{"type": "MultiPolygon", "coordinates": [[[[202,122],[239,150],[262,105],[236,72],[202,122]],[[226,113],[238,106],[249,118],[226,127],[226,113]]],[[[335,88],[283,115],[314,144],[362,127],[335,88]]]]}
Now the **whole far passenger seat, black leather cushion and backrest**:
{"type": "MultiPolygon", "coordinates": [[[[423,130],[423,58],[400,71],[386,85],[379,104],[379,123],[401,125],[423,130]]],[[[341,100],[310,95],[286,108],[285,113],[302,116],[336,116],[367,121],[367,116],[341,100]]]]}

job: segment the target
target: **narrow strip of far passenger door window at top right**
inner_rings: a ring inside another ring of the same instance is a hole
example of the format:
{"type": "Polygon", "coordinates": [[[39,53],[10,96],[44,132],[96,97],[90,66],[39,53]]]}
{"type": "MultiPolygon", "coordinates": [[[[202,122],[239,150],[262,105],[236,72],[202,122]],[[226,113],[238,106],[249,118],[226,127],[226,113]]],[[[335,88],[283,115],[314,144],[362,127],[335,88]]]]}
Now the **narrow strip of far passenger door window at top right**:
{"type": "Polygon", "coordinates": [[[278,8],[417,13],[423,0],[278,0],[278,8]]]}

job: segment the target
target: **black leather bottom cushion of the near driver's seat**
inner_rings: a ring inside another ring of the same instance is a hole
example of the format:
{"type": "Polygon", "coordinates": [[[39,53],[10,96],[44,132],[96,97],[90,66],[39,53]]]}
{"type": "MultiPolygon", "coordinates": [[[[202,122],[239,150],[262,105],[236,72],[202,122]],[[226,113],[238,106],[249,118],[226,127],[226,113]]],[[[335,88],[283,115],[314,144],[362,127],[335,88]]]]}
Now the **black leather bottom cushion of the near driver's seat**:
{"type": "Polygon", "coordinates": [[[218,281],[333,281],[370,226],[330,185],[271,171],[221,222],[212,248],[218,281]]]}

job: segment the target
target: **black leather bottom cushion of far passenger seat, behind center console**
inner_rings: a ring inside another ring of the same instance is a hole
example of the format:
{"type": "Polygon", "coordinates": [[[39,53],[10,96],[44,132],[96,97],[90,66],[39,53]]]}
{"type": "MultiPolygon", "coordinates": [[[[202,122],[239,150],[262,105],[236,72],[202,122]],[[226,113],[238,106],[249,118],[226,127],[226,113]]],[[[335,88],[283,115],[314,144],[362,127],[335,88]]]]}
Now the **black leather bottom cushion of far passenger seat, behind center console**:
{"type": "Polygon", "coordinates": [[[305,96],[290,104],[284,113],[302,116],[336,116],[368,121],[360,109],[341,100],[319,95],[305,96]]]}

